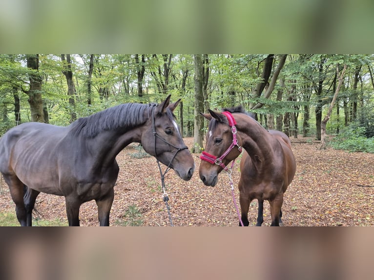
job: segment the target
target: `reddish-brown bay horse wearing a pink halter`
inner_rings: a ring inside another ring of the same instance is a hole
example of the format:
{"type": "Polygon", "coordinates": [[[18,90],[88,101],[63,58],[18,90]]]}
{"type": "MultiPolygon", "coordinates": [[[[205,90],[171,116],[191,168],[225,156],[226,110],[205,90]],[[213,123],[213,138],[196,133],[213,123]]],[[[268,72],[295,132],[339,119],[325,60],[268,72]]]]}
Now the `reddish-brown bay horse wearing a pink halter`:
{"type": "Polygon", "coordinates": [[[249,203],[257,199],[256,225],[261,226],[263,222],[263,202],[268,200],[271,225],[279,226],[283,195],[296,171],[288,136],[280,131],[266,130],[242,106],[224,109],[222,113],[209,110],[209,113],[201,114],[209,120],[209,126],[201,156],[200,179],[207,186],[216,185],[218,174],[228,170],[227,165],[241,154],[243,147],[238,184],[243,225],[249,225],[249,203]]]}

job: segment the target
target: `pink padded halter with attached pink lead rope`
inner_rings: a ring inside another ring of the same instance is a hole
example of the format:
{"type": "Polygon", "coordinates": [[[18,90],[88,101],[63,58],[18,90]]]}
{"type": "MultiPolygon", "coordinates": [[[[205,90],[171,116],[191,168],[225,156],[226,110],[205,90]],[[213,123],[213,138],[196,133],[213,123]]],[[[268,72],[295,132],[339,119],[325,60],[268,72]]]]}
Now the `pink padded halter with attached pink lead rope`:
{"type": "Polygon", "coordinates": [[[236,138],[236,126],[235,126],[236,121],[235,121],[234,117],[232,117],[231,113],[228,112],[228,111],[224,111],[224,112],[222,112],[222,114],[224,114],[227,117],[227,119],[229,121],[229,126],[231,126],[232,143],[229,146],[229,148],[226,150],[226,152],[222,154],[221,157],[217,158],[216,156],[210,155],[210,154],[208,154],[207,152],[204,151],[202,153],[202,155],[200,156],[200,159],[201,160],[205,160],[205,161],[207,161],[207,162],[209,162],[211,164],[217,164],[217,165],[221,166],[223,168],[223,170],[225,170],[226,173],[228,174],[228,176],[229,176],[229,184],[231,186],[232,200],[234,201],[236,213],[238,214],[238,218],[239,218],[240,224],[242,226],[244,226],[243,225],[243,221],[242,221],[242,219],[240,217],[238,205],[236,204],[235,195],[234,195],[234,183],[233,183],[232,178],[231,178],[232,167],[235,164],[235,160],[232,160],[230,169],[222,162],[222,160],[229,154],[229,152],[234,148],[234,146],[238,146],[238,150],[240,152],[242,151],[242,147],[239,146],[238,139],[236,138]]]}

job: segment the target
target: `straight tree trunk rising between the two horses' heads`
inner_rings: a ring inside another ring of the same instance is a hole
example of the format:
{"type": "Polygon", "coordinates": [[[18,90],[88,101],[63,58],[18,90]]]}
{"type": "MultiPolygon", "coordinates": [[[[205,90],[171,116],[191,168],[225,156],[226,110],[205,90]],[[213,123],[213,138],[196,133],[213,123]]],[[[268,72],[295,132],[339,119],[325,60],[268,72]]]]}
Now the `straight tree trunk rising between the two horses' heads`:
{"type": "Polygon", "coordinates": [[[199,114],[204,112],[204,95],[203,95],[203,61],[201,55],[194,55],[194,65],[195,65],[195,123],[194,123],[194,133],[193,133],[193,147],[192,153],[201,153],[201,148],[203,147],[204,138],[204,118],[199,114]]]}

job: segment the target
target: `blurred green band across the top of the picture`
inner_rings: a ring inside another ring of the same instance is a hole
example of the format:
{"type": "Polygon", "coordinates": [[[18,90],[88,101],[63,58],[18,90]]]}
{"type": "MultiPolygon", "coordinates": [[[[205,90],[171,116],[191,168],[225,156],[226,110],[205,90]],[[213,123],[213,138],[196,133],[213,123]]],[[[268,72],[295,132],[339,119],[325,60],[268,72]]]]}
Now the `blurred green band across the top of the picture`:
{"type": "Polygon", "coordinates": [[[372,53],[370,0],[0,1],[1,53],[372,53]]]}

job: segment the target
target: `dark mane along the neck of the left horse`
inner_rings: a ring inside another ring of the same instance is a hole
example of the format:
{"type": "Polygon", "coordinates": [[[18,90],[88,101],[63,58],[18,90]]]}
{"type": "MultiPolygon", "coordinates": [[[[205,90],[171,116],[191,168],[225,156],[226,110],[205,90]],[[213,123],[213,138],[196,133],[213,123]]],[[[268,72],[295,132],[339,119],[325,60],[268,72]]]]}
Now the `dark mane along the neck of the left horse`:
{"type": "Polygon", "coordinates": [[[147,120],[144,111],[157,104],[125,103],[91,116],[79,118],[70,124],[74,134],[93,138],[103,130],[122,127],[126,130],[139,126],[147,120]]]}

